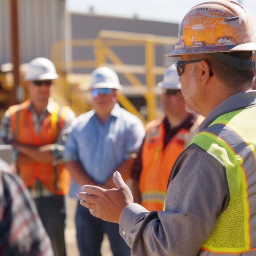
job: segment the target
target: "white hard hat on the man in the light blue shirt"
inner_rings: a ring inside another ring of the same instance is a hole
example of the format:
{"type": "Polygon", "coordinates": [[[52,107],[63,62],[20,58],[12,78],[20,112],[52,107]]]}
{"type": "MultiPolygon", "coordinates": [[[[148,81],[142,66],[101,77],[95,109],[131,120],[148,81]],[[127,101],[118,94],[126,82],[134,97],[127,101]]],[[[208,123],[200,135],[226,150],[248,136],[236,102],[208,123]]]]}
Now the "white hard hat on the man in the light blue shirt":
{"type": "Polygon", "coordinates": [[[89,90],[96,88],[112,88],[121,90],[123,86],[120,85],[119,78],[114,70],[111,70],[108,67],[99,67],[91,73],[89,90]]]}

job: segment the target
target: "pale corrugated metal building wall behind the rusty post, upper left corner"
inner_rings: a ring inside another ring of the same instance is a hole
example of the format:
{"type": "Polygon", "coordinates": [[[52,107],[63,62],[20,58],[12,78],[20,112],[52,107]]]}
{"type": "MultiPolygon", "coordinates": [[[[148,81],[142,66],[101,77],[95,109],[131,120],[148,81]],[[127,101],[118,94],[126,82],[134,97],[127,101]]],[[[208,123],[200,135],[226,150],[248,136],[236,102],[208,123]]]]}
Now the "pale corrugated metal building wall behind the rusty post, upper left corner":
{"type": "MultiPolygon", "coordinates": [[[[0,65],[10,62],[9,0],[0,0],[0,65]]],[[[18,0],[21,63],[50,58],[52,45],[66,38],[65,0],[18,0]]]]}

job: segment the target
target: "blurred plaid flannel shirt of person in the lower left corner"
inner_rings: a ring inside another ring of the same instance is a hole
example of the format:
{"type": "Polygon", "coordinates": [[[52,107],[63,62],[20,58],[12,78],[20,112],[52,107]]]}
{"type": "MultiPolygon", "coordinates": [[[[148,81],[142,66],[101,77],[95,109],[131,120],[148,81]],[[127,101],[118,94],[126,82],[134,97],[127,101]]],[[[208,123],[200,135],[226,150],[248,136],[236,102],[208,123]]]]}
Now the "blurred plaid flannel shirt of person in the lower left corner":
{"type": "Polygon", "coordinates": [[[29,191],[1,159],[0,255],[54,255],[29,191]]]}

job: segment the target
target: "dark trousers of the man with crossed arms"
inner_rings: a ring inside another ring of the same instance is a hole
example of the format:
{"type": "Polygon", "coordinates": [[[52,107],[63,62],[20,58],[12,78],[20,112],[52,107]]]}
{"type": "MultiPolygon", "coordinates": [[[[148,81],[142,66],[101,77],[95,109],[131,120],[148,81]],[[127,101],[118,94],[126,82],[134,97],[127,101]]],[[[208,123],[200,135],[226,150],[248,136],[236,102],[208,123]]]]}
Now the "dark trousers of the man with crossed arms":
{"type": "Polygon", "coordinates": [[[65,247],[65,222],[66,202],[65,197],[54,195],[34,200],[42,223],[48,233],[55,256],[66,256],[65,247]]]}

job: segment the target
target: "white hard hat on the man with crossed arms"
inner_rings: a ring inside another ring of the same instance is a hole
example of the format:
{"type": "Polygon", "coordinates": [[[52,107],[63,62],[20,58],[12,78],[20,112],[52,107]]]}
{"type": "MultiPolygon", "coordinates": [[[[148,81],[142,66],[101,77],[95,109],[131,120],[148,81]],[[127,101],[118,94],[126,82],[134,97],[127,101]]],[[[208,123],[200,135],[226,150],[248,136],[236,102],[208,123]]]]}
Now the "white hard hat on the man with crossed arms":
{"type": "Polygon", "coordinates": [[[54,63],[47,58],[35,58],[29,62],[25,74],[25,81],[53,80],[57,79],[54,63]]]}

